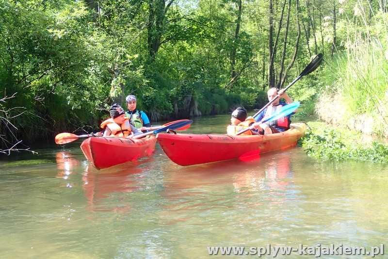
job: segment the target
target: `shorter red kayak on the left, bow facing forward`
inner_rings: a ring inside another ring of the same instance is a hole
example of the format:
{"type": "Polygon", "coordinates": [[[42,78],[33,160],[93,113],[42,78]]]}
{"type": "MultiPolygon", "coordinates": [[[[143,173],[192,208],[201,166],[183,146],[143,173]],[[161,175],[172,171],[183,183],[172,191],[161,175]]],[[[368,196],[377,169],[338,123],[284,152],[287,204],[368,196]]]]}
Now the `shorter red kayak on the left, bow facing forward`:
{"type": "Polygon", "coordinates": [[[155,144],[154,135],[141,139],[91,137],[82,142],[81,149],[87,160],[97,169],[103,169],[150,156],[155,144]]]}

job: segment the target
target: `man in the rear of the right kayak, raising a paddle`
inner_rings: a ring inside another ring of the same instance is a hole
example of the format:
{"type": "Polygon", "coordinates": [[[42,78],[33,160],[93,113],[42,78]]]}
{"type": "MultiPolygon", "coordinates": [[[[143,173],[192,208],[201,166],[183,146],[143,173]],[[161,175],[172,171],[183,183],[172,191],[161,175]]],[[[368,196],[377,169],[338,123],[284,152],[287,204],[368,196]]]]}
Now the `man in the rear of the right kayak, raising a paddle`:
{"type": "Polygon", "coordinates": [[[255,118],[256,123],[252,124],[252,126],[258,130],[259,134],[273,134],[273,133],[279,133],[286,131],[287,129],[290,129],[290,123],[291,123],[291,115],[295,112],[291,113],[288,116],[281,117],[278,120],[266,122],[266,123],[260,123],[260,121],[263,118],[267,118],[271,116],[271,114],[275,113],[277,109],[280,109],[284,105],[290,104],[292,102],[291,97],[288,96],[284,90],[277,90],[277,88],[273,87],[268,90],[268,100],[272,100],[279,94],[279,97],[276,98],[275,101],[273,101],[267,108],[265,108],[259,115],[255,118]],[[280,100],[280,99],[284,99],[280,100]]]}

